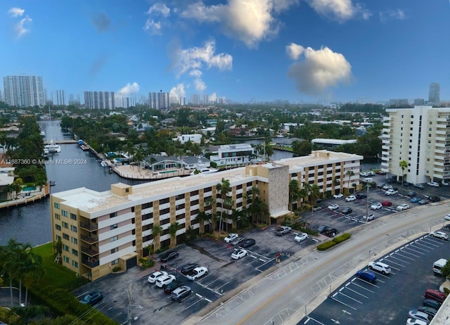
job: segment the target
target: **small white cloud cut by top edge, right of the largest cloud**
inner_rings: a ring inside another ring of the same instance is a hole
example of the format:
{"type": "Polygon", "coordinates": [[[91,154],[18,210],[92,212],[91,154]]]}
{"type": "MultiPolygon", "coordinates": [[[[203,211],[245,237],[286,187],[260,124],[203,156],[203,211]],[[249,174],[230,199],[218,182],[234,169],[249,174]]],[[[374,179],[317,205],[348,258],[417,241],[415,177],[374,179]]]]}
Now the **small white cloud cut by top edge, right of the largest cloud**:
{"type": "Polygon", "coordinates": [[[370,11],[360,4],[354,4],[353,0],[308,0],[308,3],[320,15],[340,23],[355,17],[367,20],[371,16],[370,11]]]}

